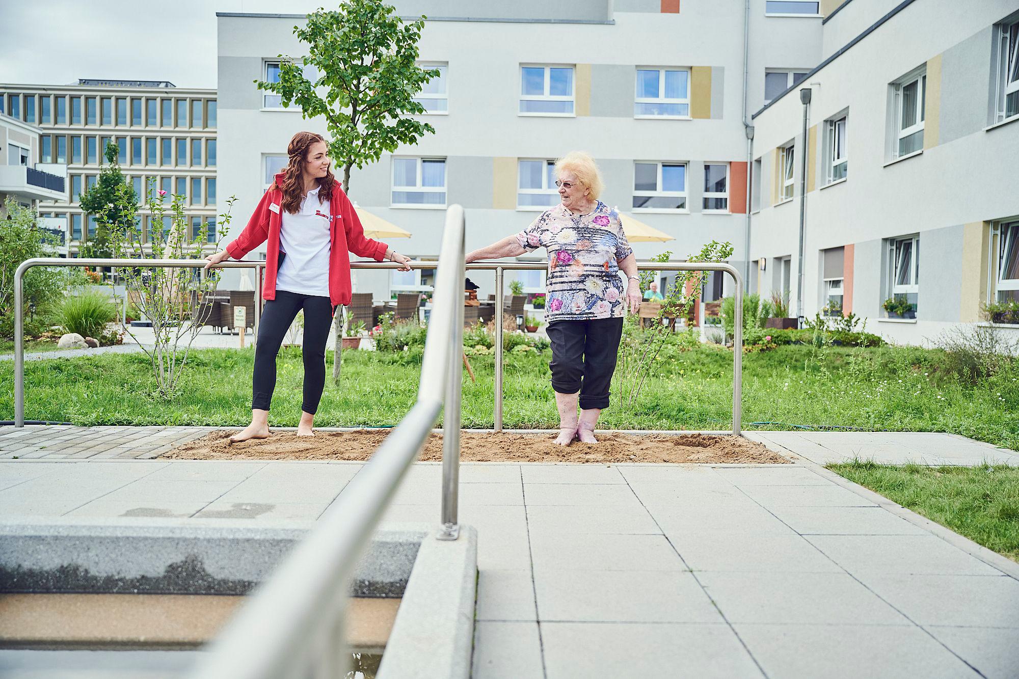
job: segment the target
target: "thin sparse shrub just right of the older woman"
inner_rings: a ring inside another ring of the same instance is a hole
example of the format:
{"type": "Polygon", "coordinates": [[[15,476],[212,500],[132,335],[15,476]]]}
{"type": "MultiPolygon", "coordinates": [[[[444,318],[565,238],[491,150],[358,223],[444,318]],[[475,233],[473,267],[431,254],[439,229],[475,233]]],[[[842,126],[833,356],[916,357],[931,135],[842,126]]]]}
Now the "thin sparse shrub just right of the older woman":
{"type": "MultiPolygon", "coordinates": [[[[688,262],[723,262],[733,254],[733,244],[711,241],[699,253],[688,257],[688,262]]],[[[667,262],[673,256],[664,252],[652,257],[652,262],[667,262]]],[[[653,279],[653,271],[641,271],[640,286],[646,290],[653,279]]],[[[668,325],[662,323],[665,318],[684,318],[689,315],[694,303],[700,298],[701,288],[707,277],[707,271],[678,271],[676,282],[672,289],[662,291],[664,299],[661,309],[653,319],[651,327],[640,329],[637,314],[627,317],[623,340],[620,342],[619,357],[614,379],[616,387],[628,406],[634,406],[641,390],[651,373],[655,360],[665,346],[671,332],[668,325]],[[687,292],[687,289],[690,292],[687,292]]]]}

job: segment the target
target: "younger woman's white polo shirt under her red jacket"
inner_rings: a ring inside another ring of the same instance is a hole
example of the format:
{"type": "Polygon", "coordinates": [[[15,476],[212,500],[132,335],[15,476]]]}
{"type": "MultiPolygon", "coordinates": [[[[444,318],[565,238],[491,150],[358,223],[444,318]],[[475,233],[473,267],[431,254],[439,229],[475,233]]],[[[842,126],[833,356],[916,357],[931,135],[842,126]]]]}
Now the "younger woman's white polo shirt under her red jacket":
{"type": "Polygon", "coordinates": [[[308,192],[301,210],[280,213],[279,249],[286,253],[276,273],[276,290],[329,297],[329,199],[308,192]]]}

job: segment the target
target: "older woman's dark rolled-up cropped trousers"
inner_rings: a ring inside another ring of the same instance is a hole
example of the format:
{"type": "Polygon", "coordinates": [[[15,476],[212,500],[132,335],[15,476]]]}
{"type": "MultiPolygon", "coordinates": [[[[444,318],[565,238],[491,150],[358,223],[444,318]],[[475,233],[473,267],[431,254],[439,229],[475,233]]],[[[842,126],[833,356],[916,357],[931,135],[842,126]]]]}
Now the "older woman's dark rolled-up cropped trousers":
{"type": "Polygon", "coordinates": [[[608,407],[608,386],[623,336],[622,318],[558,320],[548,324],[552,343],[552,388],[580,391],[580,407],[608,407]]]}

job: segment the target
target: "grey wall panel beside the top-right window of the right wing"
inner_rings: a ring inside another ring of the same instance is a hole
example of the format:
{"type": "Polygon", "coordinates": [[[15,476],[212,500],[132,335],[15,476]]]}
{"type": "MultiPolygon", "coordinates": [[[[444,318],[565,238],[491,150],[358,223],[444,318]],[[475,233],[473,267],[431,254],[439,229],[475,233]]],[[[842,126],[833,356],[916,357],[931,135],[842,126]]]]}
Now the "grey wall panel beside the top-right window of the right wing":
{"type": "Polygon", "coordinates": [[[987,125],[991,28],[977,33],[942,54],[942,105],[940,144],[978,133],[987,125]]]}

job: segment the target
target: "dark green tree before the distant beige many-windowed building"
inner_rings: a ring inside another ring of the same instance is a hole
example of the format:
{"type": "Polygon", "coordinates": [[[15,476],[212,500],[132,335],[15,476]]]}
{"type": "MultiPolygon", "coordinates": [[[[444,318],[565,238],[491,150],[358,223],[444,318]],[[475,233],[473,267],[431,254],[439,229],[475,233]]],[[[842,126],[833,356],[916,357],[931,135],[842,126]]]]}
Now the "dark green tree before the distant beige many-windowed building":
{"type": "Polygon", "coordinates": [[[100,171],[96,186],[82,194],[78,201],[87,215],[98,216],[103,211],[106,214],[104,221],[96,220],[96,233],[90,237],[89,243],[82,248],[82,257],[113,257],[115,247],[111,240],[111,231],[128,229],[135,222],[139,195],[128,186],[120,171],[120,165],[117,164],[119,153],[120,149],[116,144],[106,143],[103,156],[106,157],[108,164],[100,171]],[[121,191],[123,200],[118,202],[116,199],[121,191]]]}

